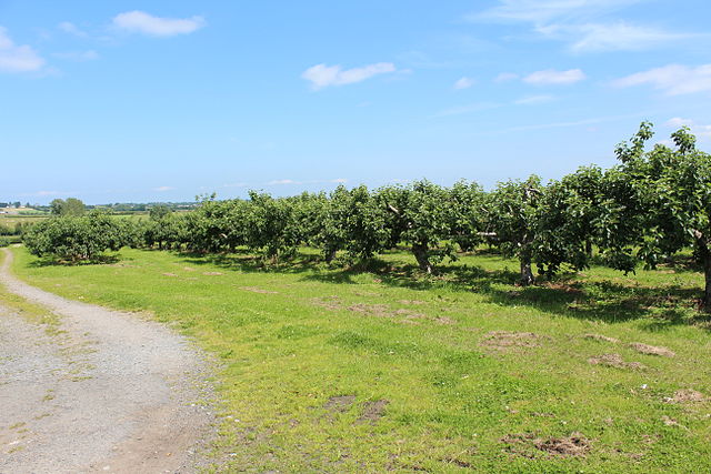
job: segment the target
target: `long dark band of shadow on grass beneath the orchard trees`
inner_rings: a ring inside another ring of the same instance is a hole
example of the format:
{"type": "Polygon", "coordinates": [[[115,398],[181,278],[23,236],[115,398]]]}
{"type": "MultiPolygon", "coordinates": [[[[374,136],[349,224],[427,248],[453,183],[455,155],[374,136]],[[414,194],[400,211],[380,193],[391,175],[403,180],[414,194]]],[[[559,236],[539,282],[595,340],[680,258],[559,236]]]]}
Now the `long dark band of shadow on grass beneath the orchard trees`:
{"type": "MultiPolygon", "coordinates": [[[[318,254],[298,254],[292,260],[271,263],[246,252],[232,254],[180,253],[193,265],[216,265],[244,273],[300,274],[301,281],[357,284],[363,273],[378,283],[414,291],[447,290],[479,293],[501,306],[530,306],[565,317],[608,323],[647,320],[650,331],[673,325],[711,325],[711,317],[698,311],[700,289],[679,285],[640,286],[610,280],[589,281],[571,273],[531,286],[518,286],[518,272],[485,270],[479,265],[441,265],[437,275],[422,273],[417,265],[373,258],[343,266],[329,265],[318,254]]],[[[500,255],[492,255],[500,258],[500,255]]],[[[683,265],[683,263],[682,263],[683,265]]],[[[689,270],[691,271],[691,270],[689,270]]]]}

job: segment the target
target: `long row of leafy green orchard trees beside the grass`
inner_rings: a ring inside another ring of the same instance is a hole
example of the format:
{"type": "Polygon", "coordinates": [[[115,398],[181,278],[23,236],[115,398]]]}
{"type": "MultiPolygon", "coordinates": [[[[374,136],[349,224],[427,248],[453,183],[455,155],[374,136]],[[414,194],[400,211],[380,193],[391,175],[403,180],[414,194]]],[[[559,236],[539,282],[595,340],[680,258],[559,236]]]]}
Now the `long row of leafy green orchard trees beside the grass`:
{"type": "MultiPolygon", "coordinates": [[[[697,150],[688,129],[672,134],[673,148],[657,144],[645,151],[651,137],[651,124],[642,123],[615,149],[618,165],[581,168],[547,185],[530,177],[499,183],[491,192],[467,181],[451,188],[428,181],[374,191],[340,186],[329,195],[281,199],[252,191],[249,200],[206,199],[184,214],[157,209],[132,229],[96,213],[71,222],[113,222],[123,239],[109,239],[113,246],[206,253],[248,246],[270,259],[289,258],[300,245],[320,248],[328,262],[339,251],[368,259],[405,244],[428,273],[457,259],[458,250],[488,241],[519,259],[522,284],[534,281],[533,264],[548,276],[563,266],[589,266],[593,248],[604,264],[629,272],[692,246],[707,278],[703,303],[711,309],[711,157],[697,150]]],[[[57,252],[52,239],[43,246],[34,242],[61,225],[69,224],[37,225],[26,234],[28,248],[37,254],[57,252]]],[[[101,232],[112,235],[107,228],[101,232]]],[[[81,255],[88,253],[73,258],[81,255]]]]}

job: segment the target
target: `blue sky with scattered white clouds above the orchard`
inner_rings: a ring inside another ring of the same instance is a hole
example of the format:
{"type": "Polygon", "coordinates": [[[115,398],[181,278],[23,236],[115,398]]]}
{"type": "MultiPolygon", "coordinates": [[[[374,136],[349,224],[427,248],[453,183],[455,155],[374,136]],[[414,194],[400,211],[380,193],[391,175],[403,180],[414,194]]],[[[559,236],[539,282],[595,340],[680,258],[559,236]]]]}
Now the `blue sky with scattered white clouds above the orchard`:
{"type": "Polygon", "coordinates": [[[0,198],[450,185],[711,151],[708,0],[0,0],[0,198]]]}

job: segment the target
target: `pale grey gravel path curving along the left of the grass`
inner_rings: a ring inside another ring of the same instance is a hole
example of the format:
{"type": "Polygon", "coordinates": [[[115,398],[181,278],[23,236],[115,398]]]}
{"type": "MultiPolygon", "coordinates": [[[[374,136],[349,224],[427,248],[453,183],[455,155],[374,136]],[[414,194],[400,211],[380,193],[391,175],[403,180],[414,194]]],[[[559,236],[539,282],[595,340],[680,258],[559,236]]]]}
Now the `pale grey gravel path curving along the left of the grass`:
{"type": "Polygon", "coordinates": [[[0,473],[194,472],[214,430],[198,351],[161,324],[20,282],[3,251],[0,282],[60,323],[0,306],[0,473]]]}

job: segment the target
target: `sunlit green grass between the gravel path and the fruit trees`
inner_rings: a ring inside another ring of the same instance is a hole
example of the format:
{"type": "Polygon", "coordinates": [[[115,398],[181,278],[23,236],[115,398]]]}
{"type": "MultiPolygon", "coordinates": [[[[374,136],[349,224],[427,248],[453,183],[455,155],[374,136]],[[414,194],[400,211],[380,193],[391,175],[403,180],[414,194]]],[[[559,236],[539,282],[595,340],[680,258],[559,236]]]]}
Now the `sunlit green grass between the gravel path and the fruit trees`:
{"type": "Polygon", "coordinates": [[[683,262],[521,289],[517,262],[493,254],[424,276],[402,253],[359,272],[309,254],[270,268],[124,250],[116,264],[56,266],[13,252],[32,284],[150,312],[223,363],[226,470],[711,470],[711,404],[669,401],[711,395],[711,335],[694,311],[702,279],[683,262]],[[603,354],[644,369],[588,362],[603,354]],[[584,456],[544,451],[577,433],[584,456]]]}

